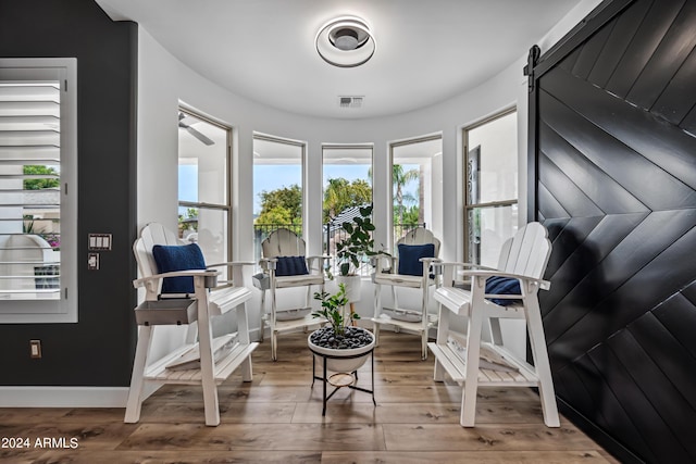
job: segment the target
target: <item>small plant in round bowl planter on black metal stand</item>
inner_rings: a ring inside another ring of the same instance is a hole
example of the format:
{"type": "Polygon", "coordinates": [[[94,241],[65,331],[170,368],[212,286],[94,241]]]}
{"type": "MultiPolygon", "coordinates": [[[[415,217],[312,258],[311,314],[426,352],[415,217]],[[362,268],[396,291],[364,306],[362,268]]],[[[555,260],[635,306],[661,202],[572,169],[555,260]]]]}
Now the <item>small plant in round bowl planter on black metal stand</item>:
{"type": "Polygon", "coordinates": [[[320,300],[322,309],[312,313],[314,317],[328,321],[328,324],[310,334],[308,343],[310,349],[319,354],[328,356],[326,368],[334,372],[351,373],[364,364],[368,354],[374,348],[374,336],[362,327],[351,324],[360,315],[346,309],[348,296],[346,286],[338,285],[338,292],[331,294],[326,291],[315,292],[314,299],[320,300]],[[352,358],[364,353],[364,356],[352,358]],[[349,359],[341,359],[350,356],[349,359]]]}

